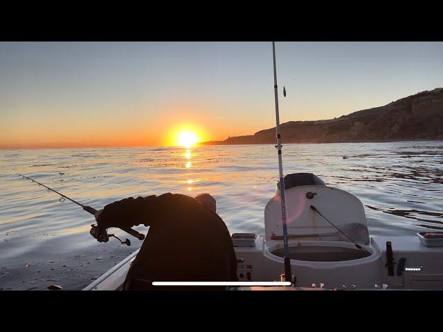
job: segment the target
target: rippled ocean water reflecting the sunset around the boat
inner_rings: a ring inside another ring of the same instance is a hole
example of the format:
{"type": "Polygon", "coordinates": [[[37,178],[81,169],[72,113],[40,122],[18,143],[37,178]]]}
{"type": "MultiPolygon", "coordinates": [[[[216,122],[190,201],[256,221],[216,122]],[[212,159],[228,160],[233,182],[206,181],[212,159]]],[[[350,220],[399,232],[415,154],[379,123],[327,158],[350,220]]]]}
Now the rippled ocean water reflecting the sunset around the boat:
{"type": "MultiPolygon", "coordinates": [[[[283,167],[356,195],[372,235],[443,230],[443,142],[284,145],[283,167]]],[[[69,290],[87,286],[141,241],[116,229],[132,246],[98,243],[89,235],[91,214],[17,173],[97,209],[129,196],[209,192],[230,232],[263,233],[278,161],[273,145],[0,150],[0,288],[69,290]]]]}

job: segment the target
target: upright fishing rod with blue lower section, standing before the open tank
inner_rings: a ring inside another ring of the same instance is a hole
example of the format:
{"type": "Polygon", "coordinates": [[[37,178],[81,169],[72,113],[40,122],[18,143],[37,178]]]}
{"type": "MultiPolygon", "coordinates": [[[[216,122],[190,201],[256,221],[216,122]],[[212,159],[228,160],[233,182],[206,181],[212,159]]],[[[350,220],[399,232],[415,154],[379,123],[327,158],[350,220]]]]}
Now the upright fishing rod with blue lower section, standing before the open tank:
{"type": "MultiPolygon", "coordinates": [[[[272,42],[272,55],[274,64],[274,97],[275,97],[275,131],[277,134],[278,151],[278,173],[280,176],[280,202],[282,205],[282,224],[283,224],[283,247],[284,247],[284,281],[292,282],[291,259],[289,258],[288,231],[287,231],[287,211],[286,196],[284,192],[283,181],[283,163],[282,163],[282,136],[280,134],[280,115],[278,113],[278,89],[277,89],[277,67],[275,66],[275,42],[272,42]]],[[[284,91],[286,95],[286,91],[284,91]]]]}

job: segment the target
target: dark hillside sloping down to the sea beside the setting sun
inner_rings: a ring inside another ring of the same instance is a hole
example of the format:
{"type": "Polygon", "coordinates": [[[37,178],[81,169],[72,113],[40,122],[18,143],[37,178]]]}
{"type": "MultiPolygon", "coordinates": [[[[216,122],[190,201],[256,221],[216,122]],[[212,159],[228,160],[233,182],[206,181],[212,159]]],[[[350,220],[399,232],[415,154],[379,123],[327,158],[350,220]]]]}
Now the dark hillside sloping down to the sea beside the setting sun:
{"type": "MultiPolygon", "coordinates": [[[[382,107],[363,109],[332,120],[289,121],[280,127],[283,143],[442,140],[443,88],[423,91],[382,107]]],[[[253,135],[202,144],[266,143],[275,143],[275,127],[253,135]]]]}

